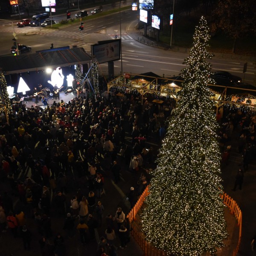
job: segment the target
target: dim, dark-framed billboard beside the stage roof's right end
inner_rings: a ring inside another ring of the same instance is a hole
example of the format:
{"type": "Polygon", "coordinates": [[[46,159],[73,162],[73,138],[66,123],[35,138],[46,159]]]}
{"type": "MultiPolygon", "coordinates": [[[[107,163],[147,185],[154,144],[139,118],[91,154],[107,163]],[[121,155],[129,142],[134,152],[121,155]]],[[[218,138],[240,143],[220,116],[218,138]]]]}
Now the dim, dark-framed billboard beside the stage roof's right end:
{"type": "Polygon", "coordinates": [[[106,43],[101,41],[100,44],[93,44],[91,51],[99,63],[117,61],[120,59],[120,39],[108,40],[106,43]]]}

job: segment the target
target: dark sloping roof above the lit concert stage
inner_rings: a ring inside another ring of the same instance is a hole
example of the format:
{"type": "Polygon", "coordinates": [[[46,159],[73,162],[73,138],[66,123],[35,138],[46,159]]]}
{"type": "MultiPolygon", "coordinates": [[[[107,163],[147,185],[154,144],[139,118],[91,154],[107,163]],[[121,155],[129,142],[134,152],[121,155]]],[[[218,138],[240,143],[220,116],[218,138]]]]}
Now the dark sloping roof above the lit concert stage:
{"type": "Polygon", "coordinates": [[[45,68],[66,67],[89,63],[92,57],[84,49],[72,48],[52,52],[21,54],[19,56],[0,56],[0,69],[5,75],[45,68]]]}

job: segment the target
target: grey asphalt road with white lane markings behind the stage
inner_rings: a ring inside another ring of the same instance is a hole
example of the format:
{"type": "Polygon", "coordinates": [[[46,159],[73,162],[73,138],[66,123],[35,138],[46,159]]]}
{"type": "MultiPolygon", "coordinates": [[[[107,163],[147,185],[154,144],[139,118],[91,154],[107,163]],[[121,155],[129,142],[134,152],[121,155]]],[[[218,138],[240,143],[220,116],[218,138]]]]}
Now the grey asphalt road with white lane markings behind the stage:
{"type": "MultiPolygon", "coordinates": [[[[111,6],[110,6],[111,8],[111,6]]],[[[104,9],[105,6],[104,6],[104,9]]],[[[88,10],[90,12],[90,10],[88,10]]],[[[75,12],[74,12],[75,13],[75,12]]],[[[185,66],[182,64],[184,58],[188,56],[185,52],[174,52],[164,49],[151,47],[134,40],[127,31],[133,31],[137,24],[137,12],[131,10],[119,12],[99,17],[97,19],[84,21],[84,30],[79,31],[79,23],[72,26],[65,26],[61,29],[47,29],[38,27],[15,27],[15,33],[18,37],[18,43],[29,45],[32,52],[40,49],[48,49],[51,43],[54,47],[66,45],[77,45],[84,47],[90,52],[91,44],[98,41],[120,38],[120,16],[122,24],[122,64],[123,71],[128,73],[154,72],[159,76],[172,77],[180,73],[185,66]]],[[[58,18],[64,18],[58,16],[58,18]]],[[[55,19],[55,17],[53,17],[55,19]]],[[[0,55],[9,53],[12,46],[13,27],[0,26],[2,34],[2,47],[0,55]]],[[[136,38],[135,38],[136,39],[136,38]]],[[[225,70],[236,76],[243,78],[244,61],[234,61],[229,59],[212,58],[212,71],[225,70]]],[[[121,72],[121,61],[114,62],[115,74],[121,72]]],[[[108,64],[100,64],[100,70],[103,74],[108,74],[108,64]]],[[[253,84],[254,67],[248,62],[245,82],[253,84]]]]}

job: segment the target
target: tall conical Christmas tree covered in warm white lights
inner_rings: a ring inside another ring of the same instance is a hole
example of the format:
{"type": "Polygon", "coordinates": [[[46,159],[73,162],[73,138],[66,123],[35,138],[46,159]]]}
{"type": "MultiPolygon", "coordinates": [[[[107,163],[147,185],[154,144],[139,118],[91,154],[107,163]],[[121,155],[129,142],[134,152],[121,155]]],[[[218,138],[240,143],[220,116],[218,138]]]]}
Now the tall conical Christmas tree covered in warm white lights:
{"type": "Polygon", "coordinates": [[[142,213],[146,240],[177,256],[214,253],[227,237],[218,127],[207,87],[213,82],[208,41],[209,28],[201,17],[142,213]]]}

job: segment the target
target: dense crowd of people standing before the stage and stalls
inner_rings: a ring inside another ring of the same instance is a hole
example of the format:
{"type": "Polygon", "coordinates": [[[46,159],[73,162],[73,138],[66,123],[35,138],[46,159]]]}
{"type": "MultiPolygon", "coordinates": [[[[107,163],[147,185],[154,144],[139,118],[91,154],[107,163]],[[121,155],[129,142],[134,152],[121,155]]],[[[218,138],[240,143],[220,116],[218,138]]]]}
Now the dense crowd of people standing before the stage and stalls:
{"type": "MultiPolygon", "coordinates": [[[[160,144],[174,108],[174,102],[166,103],[160,118],[157,104],[141,104],[127,92],[122,97],[109,93],[108,98],[83,93],[46,108],[14,105],[10,123],[0,124],[0,183],[7,184],[0,191],[3,235],[10,230],[14,238],[22,238],[24,250],[30,250],[33,224],[43,256],[65,255],[65,239],[78,234],[85,247],[97,242],[97,256],[116,256],[116,247],[125,249],[130,241],[131,225],[121,207],[115,214],[106,212],[102,199],[112,200],[105,191],[106,179],[118,185],[123,169],[139,174],[126,193],[129,209],[134,207],[151,179],[143,168],[154,164],[148,141],[160,144]],[[53,229],[52,217],[63,220],[61,230],[53,229]]],[[[256,154],[256,117],[221,109],[217,120],[223,148],[236,129],[244,157],[239,172],[246,171],[256,154]]],[[[241,189],[239,177],[234,190],[238,185],[241,189]]]]}

